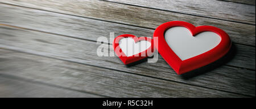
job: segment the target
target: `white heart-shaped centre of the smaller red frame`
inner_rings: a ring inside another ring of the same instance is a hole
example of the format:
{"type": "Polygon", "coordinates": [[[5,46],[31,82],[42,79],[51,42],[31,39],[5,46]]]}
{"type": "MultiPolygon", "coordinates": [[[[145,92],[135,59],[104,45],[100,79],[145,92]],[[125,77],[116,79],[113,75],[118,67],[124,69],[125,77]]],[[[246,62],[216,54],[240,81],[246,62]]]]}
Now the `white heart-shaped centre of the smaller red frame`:
{"type": "Polygon", "coordinates": [[[151,46],[151,42],[139,41],[134,42],[133,38],[122,38],[119,40],[119,47],[126,56],[133,56],[147,50],[151,46]]]}

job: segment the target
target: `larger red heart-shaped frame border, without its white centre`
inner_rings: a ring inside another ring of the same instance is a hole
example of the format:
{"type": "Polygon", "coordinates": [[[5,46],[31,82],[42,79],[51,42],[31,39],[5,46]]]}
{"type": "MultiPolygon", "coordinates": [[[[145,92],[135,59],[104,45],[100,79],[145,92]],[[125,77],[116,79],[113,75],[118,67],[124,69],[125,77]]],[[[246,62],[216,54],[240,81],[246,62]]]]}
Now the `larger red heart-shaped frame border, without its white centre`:
{"type": "Polygon", "coordinates": [[[216,61],[217,59],[220,59],[222,56],[228,53],[231,47],[230,38],[228,34],[224,32],[224,30],[208,25],[195,27],[194,25],[185,21],[170,21],[159,25],[159,27],[156,28],[154,32],[154,39],[157,37],[158,41],[154,41],[154,46],[158,50],[159,54],[163,57],[163,59],[166,60],[166,62],[174,69],[174,71],[178,75],[192,71],[196,68],[203,67],[209,63],[216,61]],[[192,36],[196,36],[196,34],[205,31],[214,32],[221,37],[221,42],[216,47],[203,54],[194,56],[186,60],[181,60],[174,53],[174,51],[172,51],[171,47],[168,46],[164,38],[164,32],[172,27],[185,27],[189,29],[192,36]]]}

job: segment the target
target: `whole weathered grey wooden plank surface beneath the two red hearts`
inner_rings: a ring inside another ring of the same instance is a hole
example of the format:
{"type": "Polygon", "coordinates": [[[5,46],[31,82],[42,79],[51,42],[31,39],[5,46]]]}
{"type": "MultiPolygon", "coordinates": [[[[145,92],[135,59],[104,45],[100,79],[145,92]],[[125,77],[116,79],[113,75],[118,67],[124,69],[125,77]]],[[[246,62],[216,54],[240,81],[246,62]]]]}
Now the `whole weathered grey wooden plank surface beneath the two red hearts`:
{"type": "Polygon", "coordinates": [[[255,97],[255,1],[6,0],[0,15],[0,97],[255,97]],[[174,20],[225,30],[232,50],[185,75],[161,56],[132,67],[96,56],[98,37],[174,20]]]}

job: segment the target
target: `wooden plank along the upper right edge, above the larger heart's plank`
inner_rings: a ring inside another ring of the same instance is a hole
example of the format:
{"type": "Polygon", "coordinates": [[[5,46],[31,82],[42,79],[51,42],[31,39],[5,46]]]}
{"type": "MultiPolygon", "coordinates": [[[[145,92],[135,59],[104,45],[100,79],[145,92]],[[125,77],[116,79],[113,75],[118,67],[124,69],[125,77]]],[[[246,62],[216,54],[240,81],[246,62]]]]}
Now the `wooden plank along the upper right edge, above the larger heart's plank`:
{"type": "Polygon", "coordinates": [[[241,3],[212,1],[212,0],[179,0],[179,1],[155,1],[155,0],[104,0],[117,3],[125,3],[134,6],[142,6],[180,12],[206,18],[238,21],[241,23],[255,24],[255,6],[241,3]]]}

